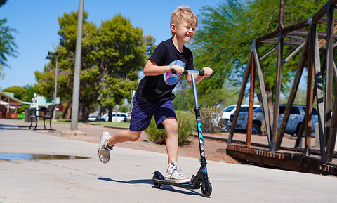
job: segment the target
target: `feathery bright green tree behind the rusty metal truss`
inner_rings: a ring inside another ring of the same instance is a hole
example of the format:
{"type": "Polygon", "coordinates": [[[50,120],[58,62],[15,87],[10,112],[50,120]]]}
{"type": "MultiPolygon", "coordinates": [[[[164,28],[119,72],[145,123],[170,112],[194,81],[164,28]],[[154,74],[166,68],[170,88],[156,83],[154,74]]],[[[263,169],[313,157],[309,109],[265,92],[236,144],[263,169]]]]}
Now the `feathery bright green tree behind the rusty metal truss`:
{"type": "MultiPolygon", "coordinates": [[[[314,15],[325,1],[285,1],[284,25],[301,22],[314,15]]],[[[279,26],[279,1],[269,0],[228,0],[215,8],[205,6],[201,13],[201,27],[194,37],[193,46],[197,48],[196,61],[211,66],[213,79],[207,82],[206,89],[216,89],[230,81],[243,77],[253,39],[277,30],[279,26]]],[[[260,47],[261,55],[270,51],[272,45],[260,47]]],[[[293,51],[285,47],[284,55],[293,51]]],[[[282,84],[290,84],[297,68],[296,60],[289,61],[282,68],[282,84]]],[[[276,53],[262,61],[263,76],[268,95],[273,103],[276,74],[276,53]],[[272,57],[274,56],[274,57],[272,57]]],[[[282,91],[286,86],[282,86],[282,91]]],[[[259,91],[258,91],[259,94],[259,91]]]]}

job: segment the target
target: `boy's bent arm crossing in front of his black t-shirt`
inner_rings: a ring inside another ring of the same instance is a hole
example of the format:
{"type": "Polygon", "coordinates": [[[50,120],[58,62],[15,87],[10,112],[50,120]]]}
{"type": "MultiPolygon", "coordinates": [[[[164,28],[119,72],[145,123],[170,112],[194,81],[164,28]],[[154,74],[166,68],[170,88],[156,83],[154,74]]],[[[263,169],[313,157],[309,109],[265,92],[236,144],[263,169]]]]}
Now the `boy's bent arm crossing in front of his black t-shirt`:
{"type": "Polygon", "coordinates": [[[166,72],[171,72],[171,70],[176,70],[176,73],[181,75],[184,72],[184,68],[180,65],[163,65],[159,66],[153,60],[147,60],[147,63],[144,67],[144,74],[147,76],[154,76],[159,74],[164,74],[166,72]]]}

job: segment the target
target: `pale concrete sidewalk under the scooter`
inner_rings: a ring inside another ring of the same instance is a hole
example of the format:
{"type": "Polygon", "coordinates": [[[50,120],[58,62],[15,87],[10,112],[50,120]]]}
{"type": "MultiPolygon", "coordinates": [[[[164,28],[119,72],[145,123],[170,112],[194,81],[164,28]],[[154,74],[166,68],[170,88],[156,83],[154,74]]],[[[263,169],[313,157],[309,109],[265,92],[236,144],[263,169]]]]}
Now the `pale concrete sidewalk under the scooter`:
{"type": "MultiPolygon", "coordinates": [[[[0,159],[0,202],[337,202],[334,176],[210,161],[211,197],[203,197],[200,189],[157,189],[152,172],[164,173],[166,155],[116,147],[103,164],[97,150],[95,143],[48,136],[0,119],[0,153],[90,157],[0,159]]],[[[192,176],[199,159],[179,157],[179,166],[192,176]]]]}

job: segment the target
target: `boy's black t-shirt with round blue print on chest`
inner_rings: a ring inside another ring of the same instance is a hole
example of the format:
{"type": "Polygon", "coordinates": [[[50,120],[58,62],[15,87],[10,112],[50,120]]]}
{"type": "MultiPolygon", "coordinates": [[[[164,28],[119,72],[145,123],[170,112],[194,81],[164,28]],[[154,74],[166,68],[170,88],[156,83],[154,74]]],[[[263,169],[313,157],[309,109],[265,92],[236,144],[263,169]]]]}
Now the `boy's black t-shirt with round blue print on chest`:
{"type": "MultiPolygon", "coordinates": [[[[174,46],[172,39],[162,41],[149,60],[153,60],[159,66],[178,64],[185,69],[194,70],[192,51],[183,46],[183,53],[180,53],[174,46]]],[[[178,75],[171,74],[171,72],[156,76],[145,76],[140,80],[136,98],[145,103],[173,100],[175,96],[172,91],[178,84],[179,79],[178,75]]]]}

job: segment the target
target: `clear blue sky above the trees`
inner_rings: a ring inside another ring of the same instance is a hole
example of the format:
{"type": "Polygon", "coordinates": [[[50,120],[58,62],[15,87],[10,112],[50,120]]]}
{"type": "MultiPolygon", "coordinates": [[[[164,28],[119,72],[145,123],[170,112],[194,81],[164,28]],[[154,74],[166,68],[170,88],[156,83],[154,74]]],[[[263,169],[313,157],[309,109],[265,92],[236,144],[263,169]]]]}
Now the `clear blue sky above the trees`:
{"type": "MultiPolygon", "coordinates": [[[[84,0],[88,22],[100,25],[121,13],[129,18],[133,27],[143,29],[143,35],[151,34],[156,44],[171,37],[169,27],[171,13],[177,6],[188,5],[199,16],[204,6],[215,7],[225,0],[84,0]]],[[[7,18],[6,25],[17,30],[12,33],[18,45],[18,57],[8,57],[4,67],[4,79],[0,78],[0,90],[11,86],[34,85],[34,72],[42,72],[48,63],[48,51],[59,44],[58,17],[78,11],[79,0],[8,0],[0,7],[0,19],[7,18]]]]}

